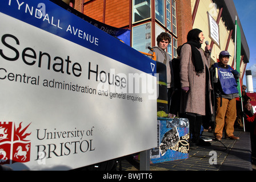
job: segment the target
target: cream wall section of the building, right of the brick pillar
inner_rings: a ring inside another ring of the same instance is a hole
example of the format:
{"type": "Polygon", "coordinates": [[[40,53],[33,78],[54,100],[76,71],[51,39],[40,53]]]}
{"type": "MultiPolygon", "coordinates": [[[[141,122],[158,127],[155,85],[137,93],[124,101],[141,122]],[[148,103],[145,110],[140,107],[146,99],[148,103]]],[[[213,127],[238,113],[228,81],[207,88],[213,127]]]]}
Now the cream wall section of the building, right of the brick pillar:
{"type": "Polygon", "coordinates": [[[217,62],[221,51],[228,51],[231,55],[229,65],[235,67],[235,17],[241,29],[241,57],[240,72],[241,81],[245,75],[246,64],[249,63],[250,51],[245,34],[235,9],[233,0],[191,0],[193,28],[199,28],[204,32],[212,48],[211,61],[217,62]],[[218,42],[212,38],[210,19],[218,26],[218,42]]]}

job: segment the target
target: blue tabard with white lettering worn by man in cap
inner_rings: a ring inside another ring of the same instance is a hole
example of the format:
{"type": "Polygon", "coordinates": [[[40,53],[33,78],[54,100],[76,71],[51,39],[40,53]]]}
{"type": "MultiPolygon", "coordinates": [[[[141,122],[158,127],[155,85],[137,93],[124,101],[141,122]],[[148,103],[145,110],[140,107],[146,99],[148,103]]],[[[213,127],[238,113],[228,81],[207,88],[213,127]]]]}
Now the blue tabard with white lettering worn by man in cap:
{"type": "Polygon", "coordinates": [[[232,73],[233,69],[229,66],[228,69],[218,68],[219,82],[221,82],[222,91],[225,94],[238,93],[237,81],[232,73]]]}

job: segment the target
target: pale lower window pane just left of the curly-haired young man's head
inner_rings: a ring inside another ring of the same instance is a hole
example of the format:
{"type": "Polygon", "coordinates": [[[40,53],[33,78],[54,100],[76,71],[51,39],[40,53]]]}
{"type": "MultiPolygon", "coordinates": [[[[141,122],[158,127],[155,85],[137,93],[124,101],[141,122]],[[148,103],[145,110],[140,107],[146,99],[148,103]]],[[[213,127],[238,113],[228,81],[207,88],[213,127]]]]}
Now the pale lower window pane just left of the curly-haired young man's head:
{"type": "Polygon", "coordinates": [[[137,51],[149,52],[151,46],[151,23],[133,27],[132,47],[137,51]]]}

